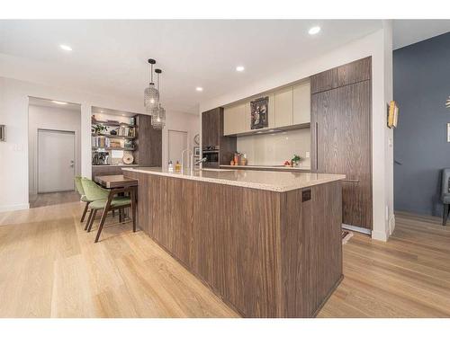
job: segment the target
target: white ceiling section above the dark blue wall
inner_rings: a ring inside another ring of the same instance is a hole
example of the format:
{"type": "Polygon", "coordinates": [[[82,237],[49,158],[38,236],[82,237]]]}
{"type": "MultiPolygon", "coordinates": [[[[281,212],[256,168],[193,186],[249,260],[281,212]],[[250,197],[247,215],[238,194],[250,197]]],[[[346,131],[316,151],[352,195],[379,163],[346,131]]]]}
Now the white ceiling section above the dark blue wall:
{"type": "Polygon", "coordinates": [[[450,20],[394,20],[393,49],[427,40],[450,31],[450,20]]]}

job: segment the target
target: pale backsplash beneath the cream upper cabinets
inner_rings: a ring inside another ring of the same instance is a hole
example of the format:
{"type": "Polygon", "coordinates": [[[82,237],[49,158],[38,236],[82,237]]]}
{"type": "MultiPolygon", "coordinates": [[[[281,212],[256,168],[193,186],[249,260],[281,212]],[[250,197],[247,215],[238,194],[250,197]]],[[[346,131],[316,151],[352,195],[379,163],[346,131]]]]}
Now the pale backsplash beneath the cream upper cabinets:
{"type": "Polygon", "coordinates": [[[238,152],[247,154],[249,165],[282,165],[300,155],[302,167],[311,167],[311,129],[295,129],[272,134],[238,137],[238,152]]]}

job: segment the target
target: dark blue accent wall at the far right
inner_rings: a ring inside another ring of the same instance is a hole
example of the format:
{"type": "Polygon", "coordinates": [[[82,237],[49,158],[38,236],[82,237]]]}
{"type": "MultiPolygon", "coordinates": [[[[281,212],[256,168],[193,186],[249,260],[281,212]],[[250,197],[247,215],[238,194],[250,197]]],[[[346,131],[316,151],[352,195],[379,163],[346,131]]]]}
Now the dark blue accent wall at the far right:
{"type": "Polygon", "coordinates": [[[394,208],[440,216],[440,170],[450,167],[450,32],[394,50],[394,208]]]}

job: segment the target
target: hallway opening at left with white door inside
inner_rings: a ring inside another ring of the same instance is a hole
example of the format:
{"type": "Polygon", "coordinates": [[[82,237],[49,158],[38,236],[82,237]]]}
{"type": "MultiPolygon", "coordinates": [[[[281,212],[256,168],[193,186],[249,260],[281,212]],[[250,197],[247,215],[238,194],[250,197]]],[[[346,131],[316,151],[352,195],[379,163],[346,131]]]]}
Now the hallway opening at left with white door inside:
{"type": "Polygon", "coordinates": [[[29,98],[30,207],[76,202],[81,173],[81,105],[29,98]]]}

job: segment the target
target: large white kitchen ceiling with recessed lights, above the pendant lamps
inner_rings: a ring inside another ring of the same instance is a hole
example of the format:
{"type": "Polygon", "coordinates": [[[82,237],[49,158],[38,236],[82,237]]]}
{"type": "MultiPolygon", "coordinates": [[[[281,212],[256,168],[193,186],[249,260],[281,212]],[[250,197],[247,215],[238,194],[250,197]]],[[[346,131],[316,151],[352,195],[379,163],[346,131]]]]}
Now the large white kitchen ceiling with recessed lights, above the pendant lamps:
{"type": "Polygon", "coordinates": [[[8,69],[14,75],[22,72],[42,84],[139,103],[148,85],[147,59],[155,58],[163,69],[166,110],[197,113],[199,102],[264,80],[381,27],[380,20],[0,21],[0,54],[21,60],[21,66],[8,69]],[[320,33],[309,35],[317,24],[320,33]],[[63,51],[59,44],[73,51],[63,51]],[[238,65],[246,70],[236,72],[238,65]],[[196,92],[196,86],[203,92],[196,92]]]}

